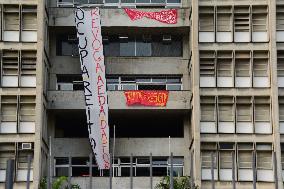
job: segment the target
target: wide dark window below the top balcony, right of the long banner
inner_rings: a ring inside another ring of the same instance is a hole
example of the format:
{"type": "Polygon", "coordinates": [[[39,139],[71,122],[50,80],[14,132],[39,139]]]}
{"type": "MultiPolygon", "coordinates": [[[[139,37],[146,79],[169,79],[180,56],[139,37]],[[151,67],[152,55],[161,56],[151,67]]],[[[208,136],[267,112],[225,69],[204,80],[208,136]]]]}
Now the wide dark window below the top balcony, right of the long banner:
{"type": "Polygon", "coordinates": [[[104,35],[104,55],[139,57],[181,57],[181,36],[177,35],[104,35]]]}

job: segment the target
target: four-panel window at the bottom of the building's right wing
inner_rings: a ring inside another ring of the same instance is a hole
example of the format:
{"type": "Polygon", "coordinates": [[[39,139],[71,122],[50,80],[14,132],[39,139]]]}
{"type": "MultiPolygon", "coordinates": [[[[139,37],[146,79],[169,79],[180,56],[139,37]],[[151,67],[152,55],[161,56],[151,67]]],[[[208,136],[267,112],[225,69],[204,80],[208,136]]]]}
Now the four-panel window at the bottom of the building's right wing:
{"type": "Polygon", "coordinates": [[[272,151],[268,143],[201,143],[201,178],[212,180],[213,168],[215,180],[231,181],[235,170],[237,181],[253,181],[255,168],[257,181],[273,182],[272,151]]]}

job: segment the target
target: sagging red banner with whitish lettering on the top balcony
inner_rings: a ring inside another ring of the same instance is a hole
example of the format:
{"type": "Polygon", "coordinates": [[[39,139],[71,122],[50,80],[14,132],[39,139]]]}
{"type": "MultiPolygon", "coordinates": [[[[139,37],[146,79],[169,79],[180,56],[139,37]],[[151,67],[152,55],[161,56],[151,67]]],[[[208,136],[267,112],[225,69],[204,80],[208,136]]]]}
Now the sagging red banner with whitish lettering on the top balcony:
{"type": "Polygon", "coordinates": [[[129,16],[131,20],[138,20],[143,17],[146,17],[146,18],[154,19],[159,22],[166,23],[166,24],[176,24],[177,23],[177,10],[176,9],[164,10],[160,12],[145,12],[145,11],[125,8],[124,11],[127,13],[127,15],[129,16]]]}

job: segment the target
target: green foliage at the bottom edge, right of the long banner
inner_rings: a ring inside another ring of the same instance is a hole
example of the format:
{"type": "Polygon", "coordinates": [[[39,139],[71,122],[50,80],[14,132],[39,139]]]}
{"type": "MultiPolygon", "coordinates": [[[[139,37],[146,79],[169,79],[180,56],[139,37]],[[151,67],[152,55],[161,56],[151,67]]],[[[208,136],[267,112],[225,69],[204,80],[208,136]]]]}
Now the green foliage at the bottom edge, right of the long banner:
{"type": "MultiPolygon", "coordinates": [[[[174,189],[198,189],[194,186],[191,188],[190,177],[174,177],[174,189]]],[[[155,186],[155,189],[170,189],[170,177],[163,177],[160,182],[155,186]]]]}

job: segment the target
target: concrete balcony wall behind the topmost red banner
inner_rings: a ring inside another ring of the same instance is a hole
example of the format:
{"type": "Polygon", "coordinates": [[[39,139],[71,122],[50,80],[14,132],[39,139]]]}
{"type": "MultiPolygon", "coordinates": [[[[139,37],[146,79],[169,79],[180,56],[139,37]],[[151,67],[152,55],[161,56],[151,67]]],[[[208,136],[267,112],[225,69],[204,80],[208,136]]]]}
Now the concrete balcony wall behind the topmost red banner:
{"type": "MultiPolygon", "coordinates": [[[[145,11],[154,12],[164,9],[146,9],[145,11]]],[[[189,9],[177,9],[178,20],[176,24],[161,23],[153,19],[142,18],[132,21],[123,9],[101,9],[101,23],[103,27],[189,27],[189,9]]],[[[73,7],[54,7],[50,8],[50,26],[74,26],[73,7]]]]}

